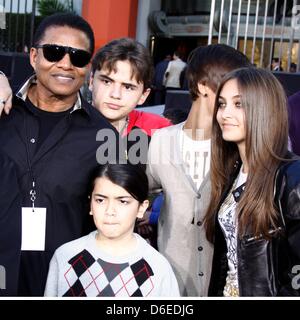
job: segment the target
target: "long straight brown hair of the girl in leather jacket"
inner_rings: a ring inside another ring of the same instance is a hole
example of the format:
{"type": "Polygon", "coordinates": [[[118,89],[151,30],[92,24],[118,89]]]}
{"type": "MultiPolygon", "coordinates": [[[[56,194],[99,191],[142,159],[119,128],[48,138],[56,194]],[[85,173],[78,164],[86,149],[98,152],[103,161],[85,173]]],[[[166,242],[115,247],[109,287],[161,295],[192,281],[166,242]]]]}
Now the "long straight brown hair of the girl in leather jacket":
{"type": "Polygon", "coordinates": [[[288,115],[285,92],[271,72],[242,68],[227,74],[217,90],[212,127],[211,201],[205,217],[206,235],[214,237],[218,201],[228,184],[228,177],[239,160],[235,143],[223,140],[216,120],[218,98],[224,84],[235,79],[241,104],[245,110],[246,158],[249,171],[246,188],[238,203],[238,230],[241,237],[248,226],[254,235],[268,238],[270,227],[276,226],[274,204],[276,170],[287,152],[288,115]]]}

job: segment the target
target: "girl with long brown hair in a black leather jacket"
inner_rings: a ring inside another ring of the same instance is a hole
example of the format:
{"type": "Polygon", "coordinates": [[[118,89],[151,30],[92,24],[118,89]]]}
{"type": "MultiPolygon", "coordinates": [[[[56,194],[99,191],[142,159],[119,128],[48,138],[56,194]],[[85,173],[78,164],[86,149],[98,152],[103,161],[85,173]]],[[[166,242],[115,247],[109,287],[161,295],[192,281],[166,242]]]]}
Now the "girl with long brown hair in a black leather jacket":
{"type": "Polygon", "coordinates": [[[299,295],[300,161],[287,152],[283,88],[268,71],[238,69],[222,80],[214,115],[209,295],[299,295]]]}

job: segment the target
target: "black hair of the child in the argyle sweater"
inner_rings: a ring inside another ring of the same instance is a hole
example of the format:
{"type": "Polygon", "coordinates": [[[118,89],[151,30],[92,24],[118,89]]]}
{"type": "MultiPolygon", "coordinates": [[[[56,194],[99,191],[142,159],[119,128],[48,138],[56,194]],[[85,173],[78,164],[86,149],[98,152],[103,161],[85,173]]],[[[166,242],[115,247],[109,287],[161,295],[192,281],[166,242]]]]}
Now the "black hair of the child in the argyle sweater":
{"type": "Polygon", "coordinates": [[[98,166],[91,176],[89,194],[94,189],[95,180],[105,177],[112,183],[124,188],[138,202],[142,203],[148,198],[148,178],[144,168],[141,165],[110,164],[98,166]]]}

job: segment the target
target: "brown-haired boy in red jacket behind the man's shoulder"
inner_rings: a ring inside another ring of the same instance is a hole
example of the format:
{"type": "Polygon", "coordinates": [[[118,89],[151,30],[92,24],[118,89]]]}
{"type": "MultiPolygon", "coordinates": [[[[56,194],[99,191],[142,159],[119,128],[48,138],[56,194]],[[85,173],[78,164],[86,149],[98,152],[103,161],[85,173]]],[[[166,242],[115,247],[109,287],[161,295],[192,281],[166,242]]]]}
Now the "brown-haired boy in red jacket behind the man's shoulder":
{"type": "MultiPolygon", "coordinates": [[[[127,137],[129,158],[130,148],[140,143],[139,151],[143,154],[138,152],[137,160],[142,164],[146,163],[152,133],[171,125],[163,117],[134,110],[149,96],[152,77],[153,63],[149,51],[131,38],[109,42],[100,48],[92,61],[89,85],[92,103],[122,137],[127,137]]],[[[136,149],[132,149],[132,156],[136,156],[136,149]]]]}

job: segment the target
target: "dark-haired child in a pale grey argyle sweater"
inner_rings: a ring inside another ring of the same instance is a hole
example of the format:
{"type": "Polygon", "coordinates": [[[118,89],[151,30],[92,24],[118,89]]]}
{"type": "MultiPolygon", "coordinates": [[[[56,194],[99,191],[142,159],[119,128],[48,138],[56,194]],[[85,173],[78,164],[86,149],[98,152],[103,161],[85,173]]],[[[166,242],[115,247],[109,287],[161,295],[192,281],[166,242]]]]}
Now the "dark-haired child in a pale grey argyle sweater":
{"type": "Polygon", "coordinates": [[[92,181],[97,231],[56,250],[45,296],[179,296],[168,261],[133,233],[149,204],[142,167],[107,164],[92,181]]]}

